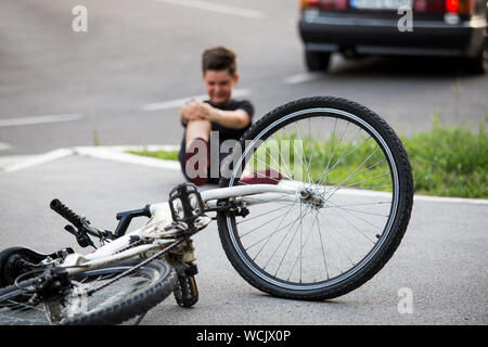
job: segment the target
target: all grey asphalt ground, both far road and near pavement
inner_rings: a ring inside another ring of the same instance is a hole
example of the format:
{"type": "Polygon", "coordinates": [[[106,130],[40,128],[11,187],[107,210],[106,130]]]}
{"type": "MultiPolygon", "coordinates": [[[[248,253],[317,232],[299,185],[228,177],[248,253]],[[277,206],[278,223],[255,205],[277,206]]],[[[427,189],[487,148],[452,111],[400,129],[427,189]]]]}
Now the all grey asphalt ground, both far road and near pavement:
{"type": "MultiPolygon", "coordinates": [[[[452,62],[334,56],[329,74],[308,74],[295,0],[213,3],[233,11],[163,0],[1,1],[0,156],[95,143],[179,143],[178,104],[204,93],[200,56],[216,44],[237,52],[237,91],[254,102],[256,117],[316,94],[363,103],[400,134],[428,128],[433,114],[473,128],[487,114],[488,77],[465,75],[452,62]],[[88,9],[87,33],[72,29],[78,4],[88,9]]],[[[0,171],[1,248],[73,246],[64,222],[49,210],[53,197],[113,229],[117,211],[165,201],[181,181],[178,171],[77,156],[0,171]]],[[[406,237],[386,267],[359,290],[324,303],[275,299],[249,286],[227,261],[213,226],[195,236],[197,306],[183,310],[168,299],[143,322],[487,324],[487,216],[486,204],[415,201],[406,237]],[[412,294],[411,313],[398,310],[401,288],[412,294]]]]}

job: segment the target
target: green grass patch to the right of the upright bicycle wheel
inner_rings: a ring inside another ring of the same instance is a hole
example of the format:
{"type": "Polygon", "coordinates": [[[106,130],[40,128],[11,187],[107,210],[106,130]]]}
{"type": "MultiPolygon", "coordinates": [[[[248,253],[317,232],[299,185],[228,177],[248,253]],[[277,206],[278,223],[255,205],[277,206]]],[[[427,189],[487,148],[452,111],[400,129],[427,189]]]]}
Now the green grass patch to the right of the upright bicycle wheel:
{"type": "Polygon", "coordinates": [[[415,192],[420,194],[488,197],[488,133],[441,126],[437,118],[429,131],[401,139],[409,155],[415,192]]]}

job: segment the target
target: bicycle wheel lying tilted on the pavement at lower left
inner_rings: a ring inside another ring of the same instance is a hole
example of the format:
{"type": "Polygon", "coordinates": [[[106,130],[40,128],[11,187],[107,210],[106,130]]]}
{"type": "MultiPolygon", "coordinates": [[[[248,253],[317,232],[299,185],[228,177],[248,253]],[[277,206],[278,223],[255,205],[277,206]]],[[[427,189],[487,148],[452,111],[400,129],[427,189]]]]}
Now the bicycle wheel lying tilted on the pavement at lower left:
{"type": "Polygon", "coordinates": [[[174,291],[177,278],[166,262],[153,260],[112,283],[134,265],[77,273],[69,278],[72,290],[42,300],[31,301],[35,293],[29,284],[35,279],[4,287],[0,290],[0,324],[118,324],[144,313],[174,291]]]}

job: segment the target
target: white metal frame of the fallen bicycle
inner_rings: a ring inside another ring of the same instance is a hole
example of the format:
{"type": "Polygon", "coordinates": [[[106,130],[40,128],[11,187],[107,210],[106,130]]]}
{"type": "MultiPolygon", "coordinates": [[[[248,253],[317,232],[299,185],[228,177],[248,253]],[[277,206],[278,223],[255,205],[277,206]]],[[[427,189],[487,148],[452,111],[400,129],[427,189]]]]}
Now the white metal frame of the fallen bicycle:
{"type": "MultiPolygon", "coordinates": [[[[220,188],[201,192],[202,201],[205,207],[217,206],[219,200],[230,200],[241,206],[249,206],[277,201],[296,201],[299,197],[296,184],[255,184],[255,185],[236,185],[229,188],[220,188]]],[[[192,202],[195,206],[196,202],[192,202]]],[[[180,206],[177,206],[177,209],[180,206]]],[[[168,247],[175,240],[165,240],[168,230],[164,227],[169,226],[172,221],[169,203],[158,203],[150,205],[151,219],[150,222],[137,230],[106,243],[88,255],[69,254],[60,265],[65,267],[69,273],[92,270],[111,264],[116,264],[126,259],[150,255],[151,253],[168,247]],[[131,236],[154,237],[151,244],[143,244],[130,247],[131,236]],[[126,249],[128,248],[128,249],[126,249]]]]}

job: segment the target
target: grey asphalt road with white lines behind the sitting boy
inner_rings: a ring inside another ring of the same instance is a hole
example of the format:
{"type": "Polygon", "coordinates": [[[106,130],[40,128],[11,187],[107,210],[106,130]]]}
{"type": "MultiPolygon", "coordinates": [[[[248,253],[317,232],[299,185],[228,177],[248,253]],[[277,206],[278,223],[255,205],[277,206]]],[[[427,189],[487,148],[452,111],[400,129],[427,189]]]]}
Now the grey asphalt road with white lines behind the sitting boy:
{"type": "Polygon", "coordinates": [[[374,110],[400,134],[447,124],[476,128],[488,110],[487,76],[452,61],[334,56],[308,74],[296,0],[4,0],[0,3],[0,155],[92,144],[177,144],[178,104],[204,94],[201,53],[239,55],[239,95],[256,118],[318,94],[374,110]],[[202,3],[193,1],[192,3],[202,3]],[[75,33],[75,5],[87,31],[75,33]]]}

